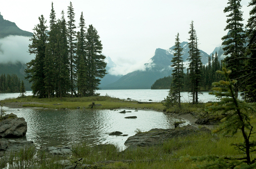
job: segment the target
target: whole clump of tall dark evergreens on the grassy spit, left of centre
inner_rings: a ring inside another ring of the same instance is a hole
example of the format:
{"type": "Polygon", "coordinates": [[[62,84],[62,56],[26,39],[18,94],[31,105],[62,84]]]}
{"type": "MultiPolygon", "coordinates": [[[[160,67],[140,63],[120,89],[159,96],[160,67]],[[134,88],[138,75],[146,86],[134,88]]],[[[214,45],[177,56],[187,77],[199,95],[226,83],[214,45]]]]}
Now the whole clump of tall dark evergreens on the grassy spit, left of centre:
{"type": "Polygon", "coordinates": [[[53,8],[49,30],[43,16],[30,39],[29,53],[36,58],[27,63],[26,79],[32,83],[34,95],[43,97],[95,95],[100,78],[106,74],[105,56],[97,30],[85,26],[81,13],[79,31],[76,32],[75,13],[70,2],[66,22],[64,12],[56,19],[53,8]],[[71,95],[70,95],[71,93],[71,95]]]}

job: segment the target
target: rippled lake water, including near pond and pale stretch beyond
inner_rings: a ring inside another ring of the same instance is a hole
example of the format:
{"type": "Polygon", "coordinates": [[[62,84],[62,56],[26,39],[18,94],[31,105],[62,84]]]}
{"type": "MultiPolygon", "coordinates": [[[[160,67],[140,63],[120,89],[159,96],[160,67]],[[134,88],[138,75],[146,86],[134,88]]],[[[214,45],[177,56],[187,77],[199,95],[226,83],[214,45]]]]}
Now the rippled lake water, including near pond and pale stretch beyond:
{"type": "MultiPolygon", "coordinates": [[[[168,95],[169,90],[99,90],[101,96],[111,96],[121,99],[132,98],[137,101],[160,102],[168,95]]],[[[26,94],[32,95],[32,92],[26,94]]],[[[0,100],[18,97],[19,93],[0,93],[0,100]]],[[[199,96],[201,102],[214,101],[215,97],[205,92],[199,96]]],[[[183,93],[183,102],[189,102],[188,93],[183,93]]],[[[135,135],[135,130],[149,131],[152,128],[173,128],[173,123],[179,121],[163,112],[151,110],[126,110],[129,113],[119,113],[122,110],[46,110],[37,108],[7,108],[6,113],[14,113],[24,117],[28,123],[26,138],[39,146],[72,145],[87,142],[88,144],[115,143],[125,148],[124,142],[135,135]],[[137,116],[136,119],[126,119],[127,116],[137,116]],[[109,136],[109,133],[120,131],[122,136],[109,136]]],[[[185,121],[185,120],[184,120],[185,121]]],[[[189,122],[187,121],[185,125],[189,122]]]]}

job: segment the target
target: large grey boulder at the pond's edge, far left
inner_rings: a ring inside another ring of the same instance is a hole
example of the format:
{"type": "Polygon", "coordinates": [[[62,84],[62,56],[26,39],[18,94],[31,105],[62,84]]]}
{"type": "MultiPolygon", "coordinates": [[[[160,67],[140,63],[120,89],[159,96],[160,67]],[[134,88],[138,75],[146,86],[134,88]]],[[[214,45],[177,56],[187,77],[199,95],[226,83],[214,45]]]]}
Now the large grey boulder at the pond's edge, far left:
{"type": "Polygon", "coordinates": [[[0,121],[0,138],[17,138],[23,137],[27,132],[27,122],[24,118],[17,118],[17,116],[7,115],[8,117],[0,121]]]}

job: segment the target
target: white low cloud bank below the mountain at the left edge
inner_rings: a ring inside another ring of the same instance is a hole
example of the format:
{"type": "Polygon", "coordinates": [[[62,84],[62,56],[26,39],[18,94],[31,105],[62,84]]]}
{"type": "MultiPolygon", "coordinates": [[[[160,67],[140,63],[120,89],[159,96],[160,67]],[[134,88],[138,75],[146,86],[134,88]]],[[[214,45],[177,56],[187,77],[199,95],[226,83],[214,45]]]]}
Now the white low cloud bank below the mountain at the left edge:
{"type": "Polygon", "coordinates": [[[27,63],[35,58],[35,55],[28,53],[29,38],[8,36],[0,39],[0,63],[27,63]]]}

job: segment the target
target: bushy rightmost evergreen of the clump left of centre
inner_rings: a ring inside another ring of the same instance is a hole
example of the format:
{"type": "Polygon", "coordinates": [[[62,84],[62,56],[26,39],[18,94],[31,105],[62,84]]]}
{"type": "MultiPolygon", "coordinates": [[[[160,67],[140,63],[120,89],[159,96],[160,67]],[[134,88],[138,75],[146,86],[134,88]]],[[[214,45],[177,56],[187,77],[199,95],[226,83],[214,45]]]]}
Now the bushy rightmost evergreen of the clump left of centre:
{"type": "Polygon", "coordinates": [[[101,54],[102,44],[98,31],[89,25],[86,33],[86,65],[87,65],[87,96],[92,96],[99,89],[100,78],[106,74],[107,63],[104,61],[105,56],[101,54]]]}

